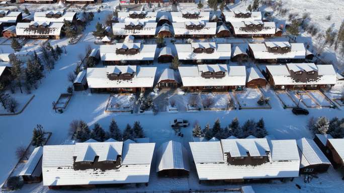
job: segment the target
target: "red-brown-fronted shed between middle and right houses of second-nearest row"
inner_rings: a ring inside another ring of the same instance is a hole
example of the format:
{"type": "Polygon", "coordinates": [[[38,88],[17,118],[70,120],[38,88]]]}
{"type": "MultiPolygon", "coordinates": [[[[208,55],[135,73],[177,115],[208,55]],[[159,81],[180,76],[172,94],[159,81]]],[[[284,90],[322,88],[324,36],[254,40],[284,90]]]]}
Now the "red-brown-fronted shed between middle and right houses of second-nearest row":
{"type": "Polygon", "coordinates": [[[247,68],[246,69],[246,87],[248,88],[255,88],[255,87],[265,87],[267,85],[267,80],[259,71],[259,69],[255,67],[247,68]]]}

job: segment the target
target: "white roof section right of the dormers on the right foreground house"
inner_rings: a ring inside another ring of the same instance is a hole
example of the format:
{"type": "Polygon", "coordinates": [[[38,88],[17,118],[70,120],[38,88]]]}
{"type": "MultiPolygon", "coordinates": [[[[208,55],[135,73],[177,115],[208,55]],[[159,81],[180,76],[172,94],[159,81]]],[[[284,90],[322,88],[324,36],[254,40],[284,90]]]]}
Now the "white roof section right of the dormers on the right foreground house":
{"type": "Polygon", "coordinates": [[[271,140],[273,161],[300,161],[296,140],[271,140]]]}

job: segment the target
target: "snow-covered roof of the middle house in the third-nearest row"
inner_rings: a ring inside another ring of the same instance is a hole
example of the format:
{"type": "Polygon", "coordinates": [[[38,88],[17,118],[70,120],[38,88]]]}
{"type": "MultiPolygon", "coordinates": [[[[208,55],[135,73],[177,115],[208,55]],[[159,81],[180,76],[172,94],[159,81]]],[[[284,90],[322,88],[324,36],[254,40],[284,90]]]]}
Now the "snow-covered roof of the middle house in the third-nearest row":
{"type": "Polygon", "coordinates": [[[179,60],[229,60],[231,56],[230,44],[216,44],[214,42],[176,44],[176,50],[179,60]],[[214,52],[194,53],[195,48],[213,48],[214,52]]]}

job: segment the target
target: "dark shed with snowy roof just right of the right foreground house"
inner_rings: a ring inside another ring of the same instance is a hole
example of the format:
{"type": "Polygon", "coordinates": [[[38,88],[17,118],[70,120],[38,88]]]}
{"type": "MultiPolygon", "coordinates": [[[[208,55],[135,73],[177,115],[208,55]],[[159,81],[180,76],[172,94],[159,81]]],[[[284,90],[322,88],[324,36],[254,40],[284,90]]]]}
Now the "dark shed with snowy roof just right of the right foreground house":
{"type": "Polygon", "coordinates": [[[327,171],[331,162],[321,152],[312,139],[301,138],[297,140],[301,158],[300,173],[319,173],[327,171]]]}

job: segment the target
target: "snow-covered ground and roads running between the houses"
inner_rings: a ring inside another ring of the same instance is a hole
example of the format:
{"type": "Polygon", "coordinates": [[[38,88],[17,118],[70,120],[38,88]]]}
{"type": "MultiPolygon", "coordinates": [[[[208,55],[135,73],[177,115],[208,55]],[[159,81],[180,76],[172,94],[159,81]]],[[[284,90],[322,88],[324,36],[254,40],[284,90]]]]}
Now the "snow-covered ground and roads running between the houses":
{"type": "MultiPolygon", "coordinates": [[[[244,7],[248,6],[250,1],[242,1],[234,6],[230,7],[244,7]],[[247,5],[245,5],[247,4],[247,5]]],[[[298,3],[296,0],[293,3],[298,3]]],[[[316,0],[316,2],[320,2],[316,0]]],[[[327,7],[322,7],[323,16],[326,11],[332,13],[330,8],[336,6],[339,7],[341,2],[335,1],[335,4],[326,4],[327,7]],[[339,5],[339,6],[338,6],[339,5]]],[[[83,33],[81,40],[75,45],[68,45],[67,39],[50,41],[52,46],[66,46],[66,54],[63,54],[61,59],[55,64],[55,69],[51,72],[46,72],[46,77],[39,84],[37,90],[33,90],[35,98],[31,101],[30,105],[19,115],[16,116],[0,116],[0,183],[3,183],[9,175],[11,169],[18,161],[15,155],[15,150],[20,145],[27,145],[32,136],[32,129],[36,124],[42,124],[46,131],[51,131],[52,136],[48,142],[50,145],[61,144],[65,139],[69,139],[68,134],[69,123],[74,119],[81,119],[87,122],[91,127],[94,123],[98,122],[103,128],[107,129],[112,118],[115,118],[119,127],[123,129],[127,123],[133,123],[134,121],[140,121],[144,128],[145,135],[150,138],[151,142],[155,142],[156,146],[167,140],[176,140],[183,143],[183,145],[189,149],[188,142],[192,141],[192,126],[182,128],[184,137],[175,135],[173,129],[170,128],[169,120],[174,118],[188,119],[193,125],[198,122],[202,127],[207,123],[213,124],[213,122],[219,118],[222,127],[227,126],[230,121],[237,117],[240,123],[243,123],[247,119],[255,119],[263,117],[266,123],[269,134],[275,135],[278,139],[299,139],[300,137],[312,137],[310,131],[306,128],[307,120],[310,116],[295,116],[290,109],[283,109],[280,101],[274,94],[274,91],[267,89],[264,95],[271,97],[270,104],[272,109],[252,109],[252,110],[231,110],[231,111],[198,111],[196,113],[188,113],[185,110],[180,110],[178,113],[159,112],[157,115],[153,114],[121,114],[121,113],[105,113],[105,108],[109,99],[109,94],[92,94],[89,91],[74,92],[73,97],[69,101],[66,111],[62,114],[55,113],[52,110],[52,101],[56,100],[56,96],[65,92],[69,86],[67,80],[67,74],[72,72],[78,62],[78,55],[84,53],[84,49],[87,45],[91,45],[92,48],[98,48],[94,45],[94,37],[92,31],[95,30],[97,22],[103,22],[105,17],[112,12],[112,8],[117,5],[117,1],[105,2],[104,8],[100,13],[95,12],[95,19],[83,33]]],[[[316,4],[314,4],[316,5],[316,4]]],[[[32,5],[33,10],[38,11],[44,8],[53,9],[51,5],[32,5]]],[[[87,10],[98,9],[99,5],[90,6],[87,10]]],[[[31,8],[30,8],[31,9],[31,8]]],[[[338,14],[342,14],[339,13],[338,14]]],[[[343,18],[341,16],[341,18],[343,18]]],[[[332,20],[339,19],[339,17],[333,16],[332,20]]],[[[326,27],[325,27],[326,28],[326,27]]],[[[1,50],[9,50],[13,52],[10,45],[1,45],[1,50]]],[[[24,50],[37,50],[37,45],[26,45],[24,50]]],[[[158,64],[155,66],[161,68],[158,64]]],[[[342,92],[343,85],[334,87],[337,90],[327,91],[329,95],[339,96],[342,92]]],[[[17,91],[18,93],[18,91],[17,91]]],[[[249,94],[249,93],[248,93],[249,94]]],[[[17,94],[16,94],[17,95],[17,94]]],[[[15,95],[15,97],[16,97],[15,95]]],[[[178,101],[182,103],[188,103],[186,99],[188,94],[175,94],[171,97],[176,97],[178,101]]],[[[249,96],[249,95],[248,95],[249,96]]],[[[256,105],[256,101],[259,97],[256,93],[252,93],[251,103],[256,105]]],[[[331,97],[330,97],[331,98],[331,97]]],[[[179,106],[179,104],[178,104],[179,106]]],[[[202,106],[202,105],[200,105],[202,106]]],[[[184,104],[184,108],[186,104],[184,104]]],[[[310,115],[314,117],[326,116],[332,118],[334,116],[343,115],[343,107],[339,109],[329,108],[309,108],[310,115]]],[[[190,155],[191,157],[191,155],[190,155]]],[[[126,190],[136,190],[141,192],[143,190],[157,190],[157,189],[219,189],[219,188],[237,188],[240,184],[199,184],[198,176],[195,166],[190,161],[191,172],[189,177],[183,178],[164,178],[158,177],[155,173],[155,160],[152,163],[151,175],[148,186],[124,186],[118,188],[95,188],[82,190],[83,192],[116,192],[126,190]],[[126,188],[127,187],[127,188],[126,188]]],[[[328,172],[319,174],[319,178],[314,178],[311,183],[303,182],[303,177],[295,178],[293,182],[281,182],[275,180],[272,183],[251,184],[257,193],[266,192],[342,192],[342,180],[338,171],[330,168],[328,172]],[[295,184],[299,184],[301,189],[298,189],[295,184]]],[[[75,190],[49,190],[47,187],[43,187],[42,183],[38,184],[25,184],[21,190],[15,192],[75,192],[75,190]]]]}

